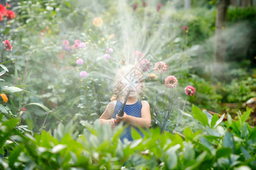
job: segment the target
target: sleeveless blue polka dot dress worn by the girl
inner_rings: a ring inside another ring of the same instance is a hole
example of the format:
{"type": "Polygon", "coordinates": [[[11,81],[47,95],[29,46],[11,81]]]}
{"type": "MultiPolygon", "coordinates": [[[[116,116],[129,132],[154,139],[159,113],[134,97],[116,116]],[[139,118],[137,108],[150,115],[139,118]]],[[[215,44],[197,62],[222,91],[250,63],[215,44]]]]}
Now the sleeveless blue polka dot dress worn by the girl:
{"type": "MultiPolygon", "coordinates": [[[[115,105],[115,109],[114,109],[114,114],[113,114],[113,118],[115,118],[115,115],[118,114],[119,111],[121,111],[122,109],[122,102],[120,100],[117,100],[117,104],[115,105]]],[[[130,116],[134,116],[134,117],[141,117],[141,108],[142,108],[142,103],[141,100],[138,100],[136,103],[134,104],[126,104],[125,105],[125,113],[127,115],[130,116]]],[[[124,123],[126,124],[126,123],[124,123]]],[[[121,141],[123,142],[123,139],[127,139],[128,141],[133,141],[133,137],[131,137],[131,127],[135,128],[134,126],[129,125],[124,131],[122,136],[120,137],[121,141]]],[[[139,130],[138,128],[135,128],[135,130],[138,131],[138,133],[141,135],[141,137],[143,138],[144,135],[141,132],[141,130],[139,130]]]]}

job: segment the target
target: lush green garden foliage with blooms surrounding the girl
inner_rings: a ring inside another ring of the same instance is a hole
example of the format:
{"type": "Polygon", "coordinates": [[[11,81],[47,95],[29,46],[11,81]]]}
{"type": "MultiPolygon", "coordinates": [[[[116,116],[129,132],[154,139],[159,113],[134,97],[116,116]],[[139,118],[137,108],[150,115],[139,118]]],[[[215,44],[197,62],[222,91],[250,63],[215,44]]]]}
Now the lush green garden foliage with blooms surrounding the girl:
{"type": "MultiPolygon", "coordinates": [[[[226,59],[233,62],[219,82],[212,76],[216,8],[183,11],[174,3],[1,5],[0,169],[120,169],[125,163],[135,169],[255,169],[256,130],[246,122],[252,110],[238,112],[236,121],[227,114],[222,122],[224,115],[200,109],[218,111],[220,102],[255,96],[254,41],[243,41],[234,61],[229,50],[226,59]],[[113,95],[118,67],[142,57],[150,61],[143,61],[151,68],[144,70],[143,100],[150,103],[152,127],[142,129],[144,139],[133,130],[135,140],[123,144],[122,126],[111,130],[96,120],[113,95]],[[158,61],[168,65],[165,73],[154,71],[158,61]],[[173,89],[161,90],[163,82],[173,89]],[[188,85],[196,89],[193,96],[184,93],[188,85]]],[[[251,35],[255,23],[245,21],[251,18],[254,8],[228,11],[230,28],[241,23],[227,32],[247,28],[228,49],[251,35]]]]}

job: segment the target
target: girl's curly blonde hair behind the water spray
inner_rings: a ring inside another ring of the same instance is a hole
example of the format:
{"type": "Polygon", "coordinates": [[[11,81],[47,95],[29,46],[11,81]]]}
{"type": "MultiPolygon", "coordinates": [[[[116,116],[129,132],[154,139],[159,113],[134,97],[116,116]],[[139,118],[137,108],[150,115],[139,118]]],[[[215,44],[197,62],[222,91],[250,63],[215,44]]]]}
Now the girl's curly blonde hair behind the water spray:
{"type": "Polygon", "coordinates": [[[121,91],[125,88],[123,79],[129,79],[128,77],[130,77],[130,75],[133,76],[137,82],[141,83],[142,88],[141,91],[139,91],[139,95],[144,97],[144,76],[142,70],[134,65],[125,65],[119,68],[117,75],[115,75],[114,95],[111,97],[111,101],[119,99],[121,91]]]}

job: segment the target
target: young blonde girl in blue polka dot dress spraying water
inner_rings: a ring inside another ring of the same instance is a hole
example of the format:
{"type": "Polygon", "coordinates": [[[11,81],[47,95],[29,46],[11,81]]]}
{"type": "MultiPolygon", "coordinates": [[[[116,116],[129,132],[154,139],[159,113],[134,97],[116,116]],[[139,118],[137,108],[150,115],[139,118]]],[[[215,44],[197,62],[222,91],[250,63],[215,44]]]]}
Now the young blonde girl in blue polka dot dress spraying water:
{"type": "Polygon", "coordinates": [[[143,90],[144,83],[141,70],[134,65],[126,65],[119,69],[115,76],[114,95],[110,99],[111,102],[107,105],[105,112],[101,115],[100,121],[102,124],[110,124],[112,128],[117,125],[115,124],[115,119],[118,122],[129,124],[121,136],[121,141],[125,138],[128,141],[133,141],[133,137],[131,137],[131,127],[134,127],[142,138],[143,134],[138,127],[150,127],[150,105],[146,100],[137,99],[137,96],[143,96],[143,90]],[[125,96],[129,90],[130,95],[125,105],[125,113],[122,117],[119,117],[117,114],[122,109],[125,96]]]}

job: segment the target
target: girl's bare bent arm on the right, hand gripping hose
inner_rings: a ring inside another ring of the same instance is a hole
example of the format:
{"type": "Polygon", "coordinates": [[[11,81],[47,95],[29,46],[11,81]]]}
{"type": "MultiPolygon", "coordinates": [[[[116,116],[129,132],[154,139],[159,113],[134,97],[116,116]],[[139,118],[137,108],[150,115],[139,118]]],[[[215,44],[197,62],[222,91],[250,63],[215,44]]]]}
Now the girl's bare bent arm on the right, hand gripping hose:
{"type": "Polygon", "coordinates": [[[141,103],[141,117],[129,116],[125,113],[123,117],[117,116],[117,120],[127,122],[135,127],[149,128],[151,125],[150,105],[146,100],[142,100],[141,103]]]}

